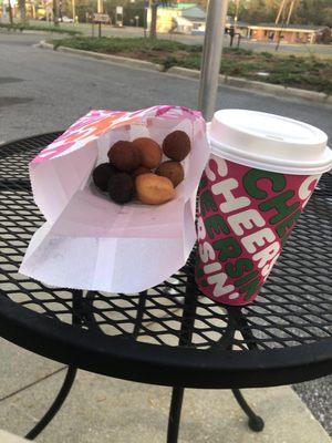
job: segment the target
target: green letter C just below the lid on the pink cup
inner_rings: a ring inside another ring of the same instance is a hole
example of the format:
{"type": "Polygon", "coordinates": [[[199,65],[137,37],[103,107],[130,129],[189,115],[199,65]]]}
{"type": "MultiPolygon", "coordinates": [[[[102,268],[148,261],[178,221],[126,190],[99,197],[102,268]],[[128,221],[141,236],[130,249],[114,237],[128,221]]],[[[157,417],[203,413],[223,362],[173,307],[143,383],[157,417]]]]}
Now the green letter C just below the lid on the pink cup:
{"type": "Polygon", "coordinates": [[[253,198],[262,199],[267,198],[269,195],[267,190],[258,187],[257,182],[259,182],[261,178],[267,178],[271,182],[272,190],[274,193],[280,193],[284,189],[286,178],[282,174],[260,169],[250,169],[243,175],[242,184],[247,193],[253,198]]]}

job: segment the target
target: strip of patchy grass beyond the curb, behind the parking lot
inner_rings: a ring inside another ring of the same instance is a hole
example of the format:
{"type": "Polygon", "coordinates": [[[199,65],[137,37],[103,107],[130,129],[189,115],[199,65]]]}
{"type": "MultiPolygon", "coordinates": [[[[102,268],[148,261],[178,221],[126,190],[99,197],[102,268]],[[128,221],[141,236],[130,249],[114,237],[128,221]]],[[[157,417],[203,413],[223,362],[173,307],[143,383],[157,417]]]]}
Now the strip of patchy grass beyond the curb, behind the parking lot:
{"type": "MultiPolygon", "coordinates": [[[[172,66],[200,69],[201,47],[169,40],[101,39],[74,37],[53,40],[54,48],[68,47],[85,51],[116,54],[172,66]]],[[[332,60],[310,56],[279,55],[245,49],[224,49],[220,73],[284,86],[301,87],[332,95],[332,60]],[[261,76],[259,72],[269,75],[261,76]]]]}

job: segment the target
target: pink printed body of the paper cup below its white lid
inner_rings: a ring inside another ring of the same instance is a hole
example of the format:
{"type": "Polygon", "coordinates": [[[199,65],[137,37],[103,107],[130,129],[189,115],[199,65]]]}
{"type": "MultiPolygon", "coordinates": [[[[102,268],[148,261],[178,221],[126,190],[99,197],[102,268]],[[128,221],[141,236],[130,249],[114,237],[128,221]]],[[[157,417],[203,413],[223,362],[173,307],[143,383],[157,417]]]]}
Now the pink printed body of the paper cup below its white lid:
{"type": "Polygon", "coordinates": [[[319,177],[211,158],[199,189],[196,278],[200,289],[226,303],[253,299],[319,177]]]}

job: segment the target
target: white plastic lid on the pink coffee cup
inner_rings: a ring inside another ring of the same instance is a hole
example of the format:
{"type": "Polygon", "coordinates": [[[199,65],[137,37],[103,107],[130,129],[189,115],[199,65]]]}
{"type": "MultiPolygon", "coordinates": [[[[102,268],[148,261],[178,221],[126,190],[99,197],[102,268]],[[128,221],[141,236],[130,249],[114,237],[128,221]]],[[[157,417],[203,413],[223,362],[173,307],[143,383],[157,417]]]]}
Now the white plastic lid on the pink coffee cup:
{"type": "Polygon", "coordinates": [[[328,135],[297,120],[221,110],[207,126],[212,153],[231,162],[298,175],[322,174],[332,167],[328,135]]]}

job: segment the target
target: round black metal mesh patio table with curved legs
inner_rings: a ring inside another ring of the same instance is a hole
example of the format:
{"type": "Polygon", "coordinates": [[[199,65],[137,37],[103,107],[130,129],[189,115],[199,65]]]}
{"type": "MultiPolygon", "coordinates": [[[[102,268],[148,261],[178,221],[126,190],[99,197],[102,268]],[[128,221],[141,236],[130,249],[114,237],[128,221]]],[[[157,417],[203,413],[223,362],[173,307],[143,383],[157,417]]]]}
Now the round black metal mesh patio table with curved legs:
{"type": "Polygon", "coordinates": [[[43,223],[28,163],[60,133],[0,147],[0,336],[69,365],[34,439],[70,392],[76,369],[173,387],[167,442],[177,441],[185,388],[231,389],[253,431],[263,421],[240,388],[332,373],[332,176],[325,174],[253,305],[227,307],[195,285],[186,266],[142,293],[50,288],[18,274],[43,223]]]}

